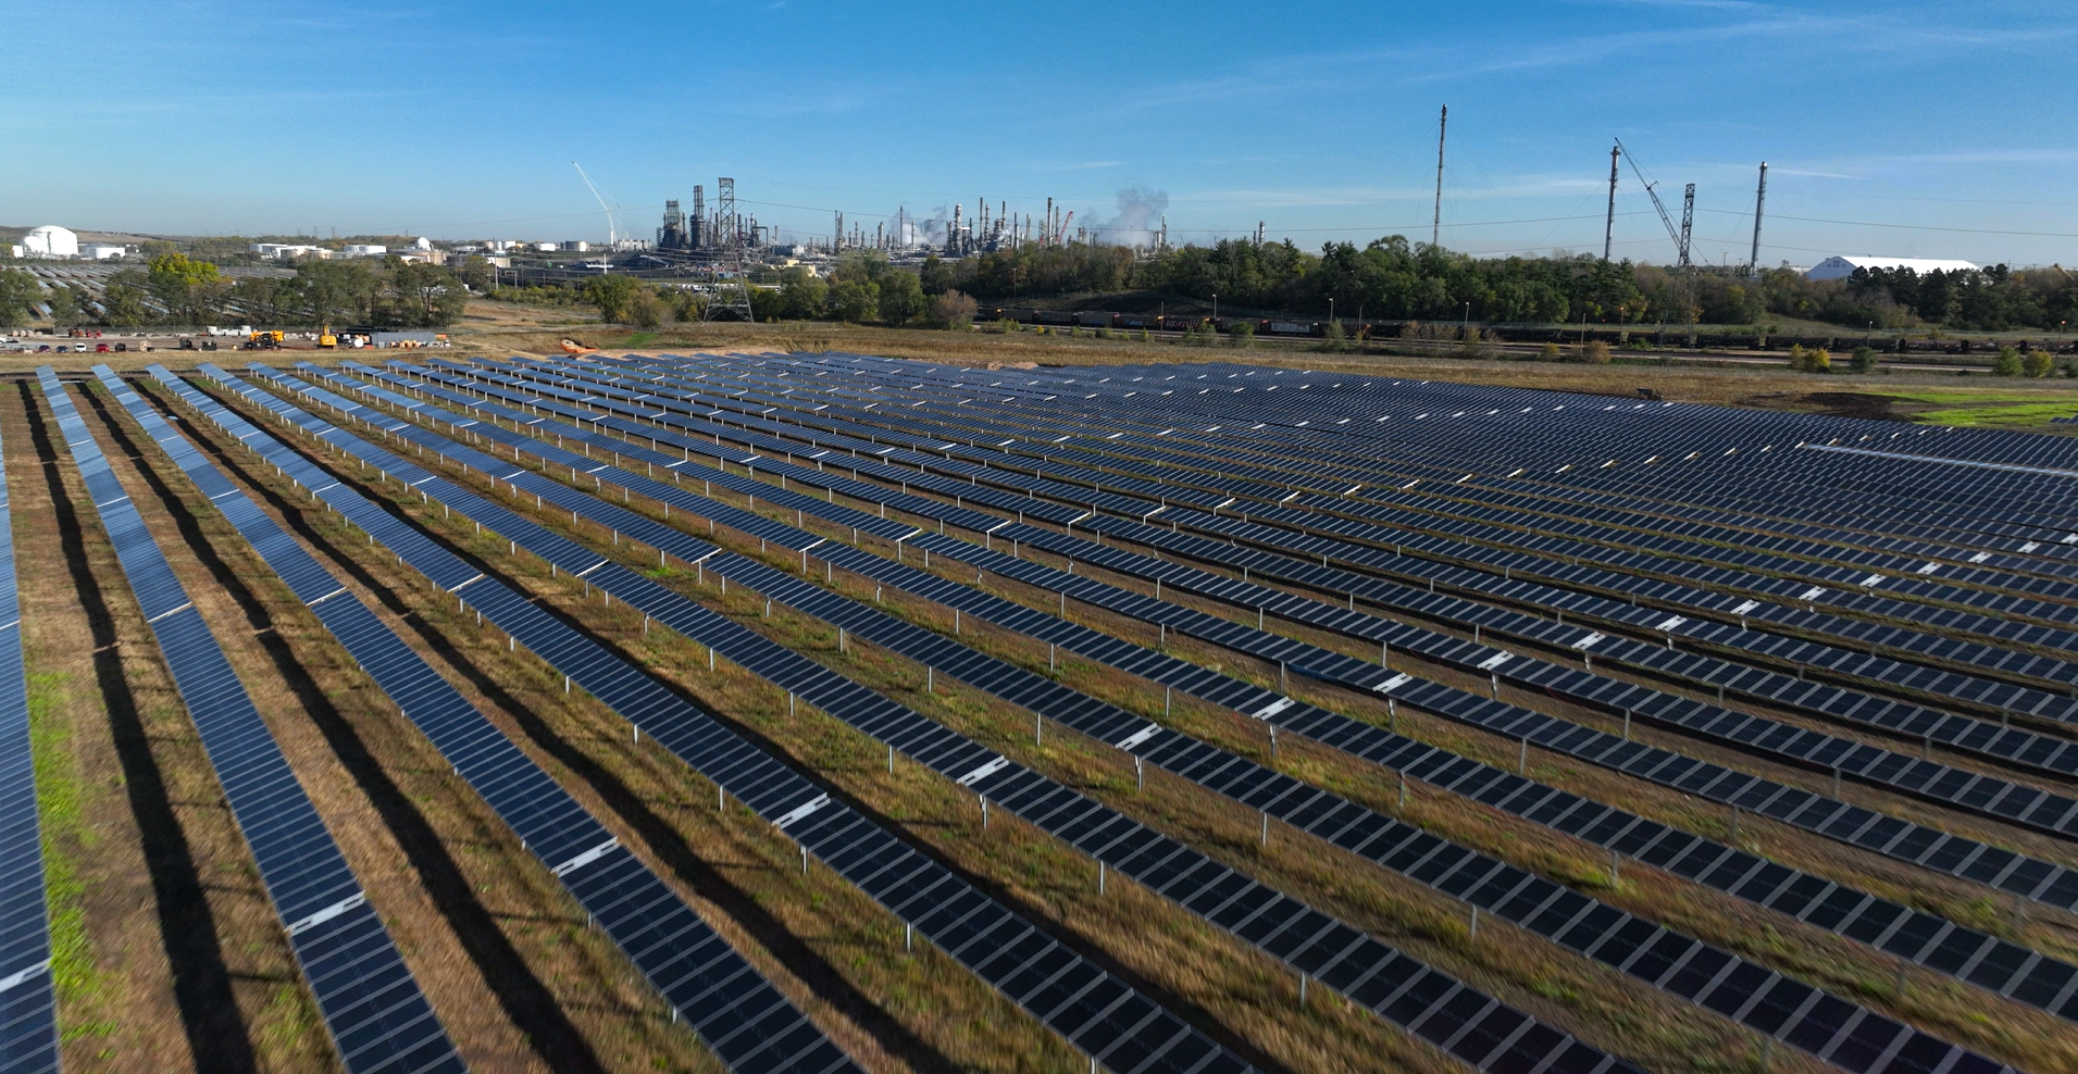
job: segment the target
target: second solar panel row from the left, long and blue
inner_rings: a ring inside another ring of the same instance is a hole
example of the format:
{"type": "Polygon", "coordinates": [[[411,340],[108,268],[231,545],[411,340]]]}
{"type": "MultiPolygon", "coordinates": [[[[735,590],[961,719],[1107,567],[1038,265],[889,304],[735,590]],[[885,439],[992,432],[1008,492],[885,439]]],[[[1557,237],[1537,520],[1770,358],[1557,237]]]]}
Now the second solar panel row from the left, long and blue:
{"type": "Polygon", "coordinates": [[[353,1074],[465,1070],[64,384],[48,366],[37,378],[260,866],[341,1064],[353,1074]]]}

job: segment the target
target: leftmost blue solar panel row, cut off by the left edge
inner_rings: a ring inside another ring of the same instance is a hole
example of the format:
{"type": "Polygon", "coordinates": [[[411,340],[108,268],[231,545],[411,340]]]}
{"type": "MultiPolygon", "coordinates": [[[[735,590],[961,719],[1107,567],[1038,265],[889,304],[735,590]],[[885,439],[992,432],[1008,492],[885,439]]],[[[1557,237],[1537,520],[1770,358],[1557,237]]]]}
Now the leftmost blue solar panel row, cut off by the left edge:
{"type": "Polygon", "coordinates": [[[58,999],[8,507],[0,465],[0,1070],[46,1074],[58,1070],[58,999]]]}

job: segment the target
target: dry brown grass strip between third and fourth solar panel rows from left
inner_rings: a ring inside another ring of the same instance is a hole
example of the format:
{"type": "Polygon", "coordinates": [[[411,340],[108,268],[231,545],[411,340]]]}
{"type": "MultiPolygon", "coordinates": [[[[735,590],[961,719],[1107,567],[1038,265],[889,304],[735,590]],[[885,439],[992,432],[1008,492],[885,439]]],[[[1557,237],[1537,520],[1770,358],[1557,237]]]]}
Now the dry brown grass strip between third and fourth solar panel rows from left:
{"type": "MultiPolygon", "coordinates": [[[[191,428],[199,428],[197,422],[191,428]]],[[[208,430],[220,459],[227,445],[208,430]]],[[[975,983],[935,951],[902,951],[902,929],[860,891],[817,868],[798,875],[794,843],[742,808],[717,816],[713,785],[688,775],[671,754],[625,737],[625,721],[582,692],[563,694],[561,677],[526,652],[509,652],[503,634],[457,615],[449,596],[343,521],[308,511],[287,480],[268,467],[243,467],[239,480],[270,494],[270,507],[295,515],[314,534],[320,557],[351,565],[359,586],[380,598],[384,617],[407,625],[414,642],[484,710],[544,762],[621,839],[636,848],[738,949],[802,1003],[831,1037],[869,1068],[902,1070],[1072,1070],[1074,1057],[1022,1012],[975,983]]],[[[378,499],[395,488],[366,488],[378,499]]],[[[420,507],[416,499],[399,507],[420,507]]],[[[414,511],[438,530],[438,507],[414,511]]],[[[447,536],[484,559],[505,561],[505,542],[478,538],[455,523],[447,536]]],[[[567,580],[524,578],[522,588],[563,594],[567,580]]],[[[634,634],[640,636],[640,617],[634,634]]],[[[638,654],[640,659],[642,654],[638,654]]],[[[702,698],[734,708],[763,706],[783,719],[754,683],[721,683],[702,698]]],[[[582,912],[580,918],[582,920],[582,912]]],[[[603,939],[601,939],[603,943],[603,939]]],[[[617,960],[617,956],[613,956],[617,960]]],[[[621,1001],[663,1026],[663,1005],[632,985],[621,1001]]],[[[580,987],[567,997],[590,1003],[580,987]]],[[[574,1012],[574,1018],[582,1018],[574,1012]]],[[[677,1030],[686,1037],[684,1030],[677,1030]]],[[[684,1055],[628,1055],[625,1068],[684,1064],[684,1055]]],[[[621,1068],[617,1064],[617,1068],[621,1068]]]]}

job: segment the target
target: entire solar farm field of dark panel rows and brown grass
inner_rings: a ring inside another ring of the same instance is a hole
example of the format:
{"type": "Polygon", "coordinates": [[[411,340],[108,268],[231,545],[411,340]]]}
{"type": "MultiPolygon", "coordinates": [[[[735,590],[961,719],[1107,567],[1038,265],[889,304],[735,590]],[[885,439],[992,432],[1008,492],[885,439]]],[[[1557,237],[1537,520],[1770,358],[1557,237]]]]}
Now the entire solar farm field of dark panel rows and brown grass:
{"type": "Polygon", "coordinates": [[[0,434],[6,1072],[2078,1074],[2072,438],[854,353],[0,434]]]}

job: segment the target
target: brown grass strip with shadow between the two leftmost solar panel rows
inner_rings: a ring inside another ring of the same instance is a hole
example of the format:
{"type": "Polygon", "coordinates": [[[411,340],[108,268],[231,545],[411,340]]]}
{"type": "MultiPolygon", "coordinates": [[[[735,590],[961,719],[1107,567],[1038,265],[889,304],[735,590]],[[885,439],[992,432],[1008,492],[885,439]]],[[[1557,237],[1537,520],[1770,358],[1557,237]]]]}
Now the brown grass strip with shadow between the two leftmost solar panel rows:
{"type": "Polygon", "coordinates": [[[37,787],[54,875],[71,879],[54,906],[64,1068],[337,1070],[106,532],[77,507],[89,496],[39,393],[19,393],[4,420],[10,440],[31,432],[10,442],[10,492],[27,523],[15,542],[37,762],[77,773],[77,812],[54,794],[64,783],[37,787]]]}

